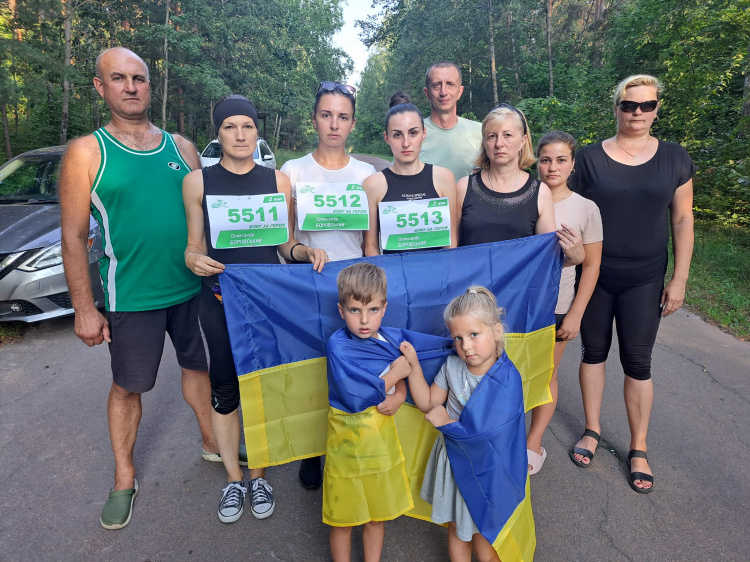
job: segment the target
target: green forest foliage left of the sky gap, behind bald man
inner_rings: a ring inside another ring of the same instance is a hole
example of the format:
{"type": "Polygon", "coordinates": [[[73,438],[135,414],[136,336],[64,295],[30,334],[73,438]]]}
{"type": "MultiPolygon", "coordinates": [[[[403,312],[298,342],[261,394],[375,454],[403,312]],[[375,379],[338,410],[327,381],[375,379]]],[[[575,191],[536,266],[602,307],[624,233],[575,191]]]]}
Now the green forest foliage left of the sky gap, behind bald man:
{"type": "Polygon", "coordinates": [[[343,24],[340,0],[181,0],[169,4],[168,23],[164,2],[68,0],[66,6],[72,14],[67,70],[59,1],[18,0],[15,13],[7,3],[0,9],[0,94],[15,154],[58,144],[66,76],[73,85],[69,138],[107,122],[91,79],[96,56],[111,46],[146,60],[152,120],[161,125],[166,96],[166,128],[183,121],[183,134],[199,147],[214,136],[211,104],[228,93],[248,96],[268,114],[267,137],[280,119],[282,146],[307,144],[318,83],[341,79],[351,68],[346,53],[331,45],[343,24]]]}

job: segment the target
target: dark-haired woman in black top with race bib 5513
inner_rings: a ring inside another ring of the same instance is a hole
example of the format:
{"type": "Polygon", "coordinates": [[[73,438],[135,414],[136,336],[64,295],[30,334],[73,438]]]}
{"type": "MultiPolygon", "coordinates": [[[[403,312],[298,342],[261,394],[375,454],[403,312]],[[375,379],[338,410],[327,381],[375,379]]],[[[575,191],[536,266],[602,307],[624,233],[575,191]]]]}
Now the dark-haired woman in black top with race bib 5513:
{"type": "Polygon", "coordinates": [[[365,255],[456,247],[456,180],[448,168],[419,159],[426,135],[419,108],[393,94],[383,134],[393,165],[362,184],[370,204],[365,255]]]}

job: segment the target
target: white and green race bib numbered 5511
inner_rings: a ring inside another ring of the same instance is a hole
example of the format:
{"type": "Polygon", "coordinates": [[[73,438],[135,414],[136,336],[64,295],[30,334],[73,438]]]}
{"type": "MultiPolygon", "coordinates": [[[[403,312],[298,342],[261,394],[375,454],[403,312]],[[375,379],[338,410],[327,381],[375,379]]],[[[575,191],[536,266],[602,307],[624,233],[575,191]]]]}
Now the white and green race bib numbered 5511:
{"type": "Polygon", "coordinates": [[[211,245],[216,249],[277,246],[289,240],[283,193],[206,195],[211,245]]]}

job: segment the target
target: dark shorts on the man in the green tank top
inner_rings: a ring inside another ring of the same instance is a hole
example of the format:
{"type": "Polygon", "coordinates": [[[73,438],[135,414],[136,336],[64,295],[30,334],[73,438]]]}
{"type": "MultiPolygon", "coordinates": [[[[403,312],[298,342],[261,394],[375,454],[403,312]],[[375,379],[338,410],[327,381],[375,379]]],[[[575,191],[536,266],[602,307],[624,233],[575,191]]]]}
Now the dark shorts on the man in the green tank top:
{"type": "Polygon", "coordinates": [[[198,325],[198,296],[189,301],[157,310],[107,312],[112,342],[112,380],[130,392],[148,392],[156,383],[156,373],[169,334],[177,363],[183,369],[208,369],[198,325]]]}

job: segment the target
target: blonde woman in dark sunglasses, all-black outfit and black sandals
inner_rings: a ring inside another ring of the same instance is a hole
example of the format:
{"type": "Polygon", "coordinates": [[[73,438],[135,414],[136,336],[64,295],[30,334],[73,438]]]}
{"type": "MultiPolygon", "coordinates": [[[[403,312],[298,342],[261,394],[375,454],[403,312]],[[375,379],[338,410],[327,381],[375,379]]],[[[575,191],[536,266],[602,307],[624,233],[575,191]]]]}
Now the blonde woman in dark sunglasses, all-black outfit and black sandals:
{"type": "Polygon", "coordinates": [[[630,76],[614,94],[617,133],[581,149],[573,191],[594,201],[604,227],[601,270],[581,321],[583,358],[579,371],[586,426],[570,453],[588,468],[600,440],[605,362],[617,327],[625,373],[630,425],[630,487],[654,489],[646,458],[653,402],[651,352],[659,321],[682,306],[693,253],[693,180],[696,167],[678,144],[651,136],[662,85],[653,76],[630,76]],[[664,287],[672,228],[674,273],[664,287]]]}

